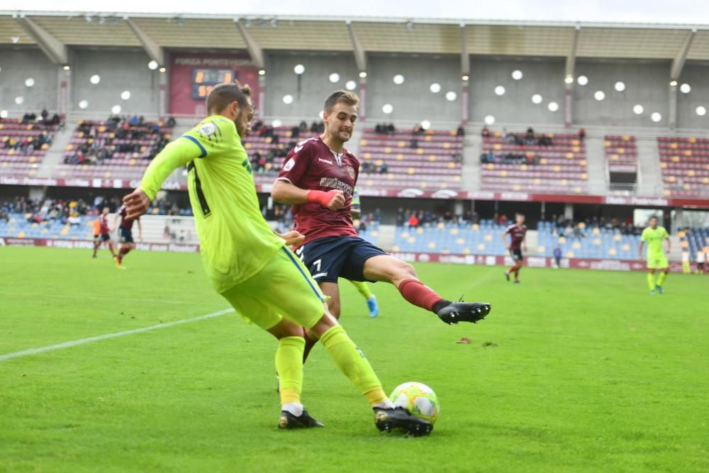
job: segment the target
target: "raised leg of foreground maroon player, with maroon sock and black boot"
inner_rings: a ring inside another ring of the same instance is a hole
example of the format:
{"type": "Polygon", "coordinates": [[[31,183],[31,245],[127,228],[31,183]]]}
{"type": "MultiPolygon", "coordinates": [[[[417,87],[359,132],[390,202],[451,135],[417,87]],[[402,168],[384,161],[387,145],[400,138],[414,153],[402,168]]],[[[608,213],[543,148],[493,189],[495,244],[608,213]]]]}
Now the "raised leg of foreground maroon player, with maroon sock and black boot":
{"type": "Polygon", "coordinates": [[[443,299],[418,279],[413,266],[389,255],[372,256],[364,262],[364,279],[389,282],[409,304],[435,313],[443,322],[477,322],[490,312],[486,302],[452,302],[443,299]]]}

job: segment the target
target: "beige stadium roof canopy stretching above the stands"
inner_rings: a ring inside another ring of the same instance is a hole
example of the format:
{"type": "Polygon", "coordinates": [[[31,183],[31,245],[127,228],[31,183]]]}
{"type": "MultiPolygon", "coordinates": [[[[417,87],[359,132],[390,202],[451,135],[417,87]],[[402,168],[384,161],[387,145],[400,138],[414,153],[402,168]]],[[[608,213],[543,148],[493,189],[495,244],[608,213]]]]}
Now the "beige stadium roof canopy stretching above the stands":
{"type": "Polygon", "coordinates": [[[0,11],[0,46],[307,50],[709,60],[709,25],[0,11]]]}

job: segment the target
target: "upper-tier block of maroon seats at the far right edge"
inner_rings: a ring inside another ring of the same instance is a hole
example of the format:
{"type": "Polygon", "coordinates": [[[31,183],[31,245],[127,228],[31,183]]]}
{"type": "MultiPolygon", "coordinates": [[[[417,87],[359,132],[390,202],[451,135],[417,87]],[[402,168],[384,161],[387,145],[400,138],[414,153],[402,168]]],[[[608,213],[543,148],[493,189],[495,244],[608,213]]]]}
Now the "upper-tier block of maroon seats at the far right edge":
{"type": "Polygon", "coordinates": [[[666,197],[709,196],[709,138],[657,138],[666,197]]]}

